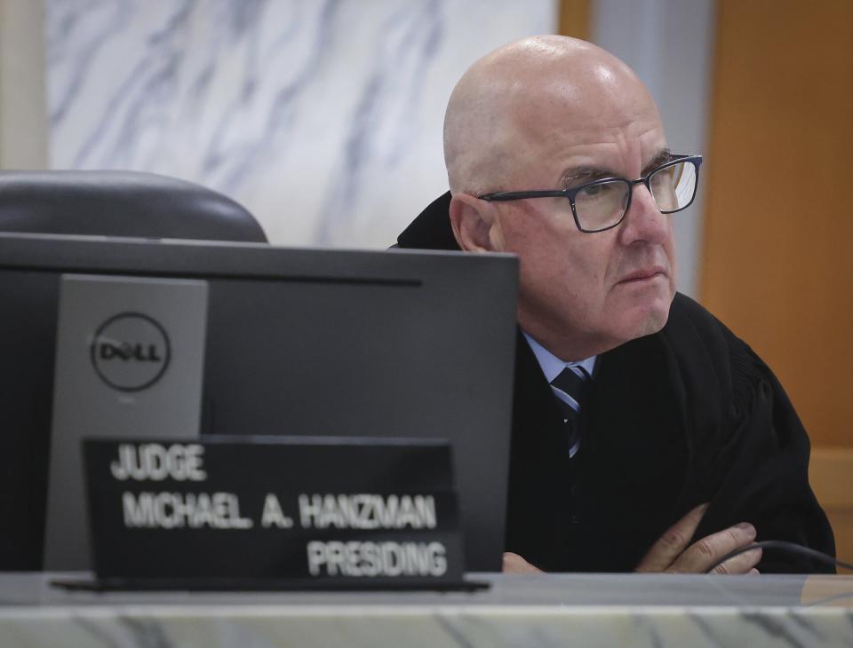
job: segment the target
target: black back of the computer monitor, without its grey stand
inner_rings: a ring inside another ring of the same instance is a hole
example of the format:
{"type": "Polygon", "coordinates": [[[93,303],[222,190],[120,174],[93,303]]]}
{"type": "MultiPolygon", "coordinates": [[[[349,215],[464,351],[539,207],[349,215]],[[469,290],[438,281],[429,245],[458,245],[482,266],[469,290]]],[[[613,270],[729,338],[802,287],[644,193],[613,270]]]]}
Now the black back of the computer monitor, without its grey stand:
{"type": "Polygon", "coordinates": [[[500,568],[514,257],[0,234],[0,569],[43,566],[60,285],[81,280],[204,286],[195,433],[450,439],[467,569],[500,568]]]}

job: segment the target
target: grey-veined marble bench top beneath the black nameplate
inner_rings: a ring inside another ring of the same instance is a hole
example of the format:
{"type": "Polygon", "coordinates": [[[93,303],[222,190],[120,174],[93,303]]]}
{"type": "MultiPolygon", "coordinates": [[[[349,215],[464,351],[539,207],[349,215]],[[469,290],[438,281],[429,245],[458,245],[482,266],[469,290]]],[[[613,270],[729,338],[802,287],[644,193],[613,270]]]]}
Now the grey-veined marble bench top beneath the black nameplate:
{"type": "Polygon", "coordinates": [[[476,593],[68,593],[0,575],[0,645],[853,645],[853,577],[476,574],[476,593]]]}

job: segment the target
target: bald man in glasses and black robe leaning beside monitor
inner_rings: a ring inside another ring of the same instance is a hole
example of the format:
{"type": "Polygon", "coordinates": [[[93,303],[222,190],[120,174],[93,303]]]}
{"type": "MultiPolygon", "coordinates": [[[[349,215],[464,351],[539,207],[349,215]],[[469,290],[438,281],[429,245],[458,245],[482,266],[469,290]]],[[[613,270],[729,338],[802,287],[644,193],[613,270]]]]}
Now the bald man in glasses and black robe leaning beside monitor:
{"type": "MultiPolygon", "coordinates": [[[[510,43],[457,84],[444,154],[450,192],[399,247],[520,260],[506,570],[705,572],[756,540],[833,554],[776,377],[675,292],[701,158],[670,149],[634,72],[567,37],[510,43]]],[[[833,571],[771,549],[716,567],[759,570],[833,571]]]]}

